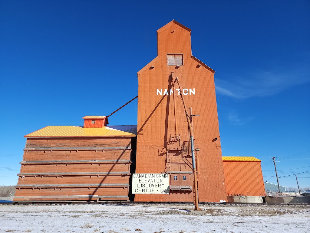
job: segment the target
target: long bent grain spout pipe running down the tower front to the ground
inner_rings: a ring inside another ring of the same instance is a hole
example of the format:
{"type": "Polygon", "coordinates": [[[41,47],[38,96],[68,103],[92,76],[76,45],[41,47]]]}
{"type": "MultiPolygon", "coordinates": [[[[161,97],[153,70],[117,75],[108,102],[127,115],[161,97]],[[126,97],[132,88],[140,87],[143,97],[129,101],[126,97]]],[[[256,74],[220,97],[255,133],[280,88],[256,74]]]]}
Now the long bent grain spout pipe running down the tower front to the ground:
{"type": "Polygon", "coordinates": [[[195,161],[193,127],[192,127],[191,119],[190,119],[189,114],[187,112],[187,107],[186,107],[186,104],[185,104],[185,101],[184,101],[184,94],[183,94],[183,92],[181,90],[181,85],[180,85],[178,77],[176,78],[176,80],[178,81],[178,85],[179,85],[179,89],[180,89],[180,93],[181,93],[181,97],[182,97],[182,102],[183,102],[183,105],[184,105],[185,115],[186,115],[186,119],[187,119],[187,123],[188,123],[188,127],[189,127],[189,135],[190,135],[190,139],[191,139],[193,175],[194,175],[195,210],[201,210],[198,207],[198,190],[197,190],[197,174],[196,174],[196,161],[195,161]]]}

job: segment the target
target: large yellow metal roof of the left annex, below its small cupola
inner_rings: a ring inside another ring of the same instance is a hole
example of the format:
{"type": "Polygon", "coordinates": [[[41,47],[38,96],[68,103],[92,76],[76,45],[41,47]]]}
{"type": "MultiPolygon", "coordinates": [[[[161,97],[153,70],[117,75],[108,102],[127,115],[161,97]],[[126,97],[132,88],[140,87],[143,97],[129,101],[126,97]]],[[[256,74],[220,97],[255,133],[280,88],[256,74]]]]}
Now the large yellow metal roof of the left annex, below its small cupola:
{"type": "Polygon", "coordinates": [[[137,126],[104,126],[83,128],[82,126],[46,126],[24,137],[135,137],[137,126]]]}

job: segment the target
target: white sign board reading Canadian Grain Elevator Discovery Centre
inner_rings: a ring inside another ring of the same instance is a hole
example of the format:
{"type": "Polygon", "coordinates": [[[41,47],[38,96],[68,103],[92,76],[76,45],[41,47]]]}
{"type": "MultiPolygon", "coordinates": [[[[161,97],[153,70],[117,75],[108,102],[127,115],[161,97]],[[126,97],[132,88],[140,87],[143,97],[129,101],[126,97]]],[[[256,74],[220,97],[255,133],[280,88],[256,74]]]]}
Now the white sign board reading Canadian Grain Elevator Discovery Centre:
{"type": "Polygon", "coordinates": [[[168,194],[168,174],[134,173],[132,174],[133,194],[168,194]]]}

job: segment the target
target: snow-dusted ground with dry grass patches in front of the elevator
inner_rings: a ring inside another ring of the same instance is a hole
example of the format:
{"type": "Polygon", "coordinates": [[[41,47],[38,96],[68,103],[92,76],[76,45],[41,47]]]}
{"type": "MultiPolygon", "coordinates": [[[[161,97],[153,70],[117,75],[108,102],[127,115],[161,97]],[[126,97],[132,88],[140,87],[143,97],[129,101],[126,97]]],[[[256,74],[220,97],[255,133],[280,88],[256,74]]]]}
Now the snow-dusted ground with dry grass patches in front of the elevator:
{"type": "Polygon", "coordinates": [[[0,232],[309,232],[310,206],[187,204],[0,205],[0,232]]]}

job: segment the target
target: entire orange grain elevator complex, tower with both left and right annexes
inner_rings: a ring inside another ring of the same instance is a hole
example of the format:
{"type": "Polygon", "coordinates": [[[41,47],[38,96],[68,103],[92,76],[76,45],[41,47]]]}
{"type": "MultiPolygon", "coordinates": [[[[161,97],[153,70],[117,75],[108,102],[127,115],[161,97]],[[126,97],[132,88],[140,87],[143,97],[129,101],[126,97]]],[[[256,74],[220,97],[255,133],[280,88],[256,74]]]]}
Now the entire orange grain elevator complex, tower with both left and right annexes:
{"type": "Polygon", "coordinates": [[[169,22],[157,30],[157,57],[137,73],[137,125],[108,126],[106,116],[86,116],[83,126],[47,126],[25,135],[13,200],[193,202],[182,95],[193,126],[198,201],[264,196],[259,159],[222,157],[214,74],[192,55],[191,30],[169,22]],[[133,173],[167,174],[168,189],[132,194],[133,173]]]}

